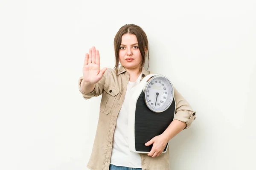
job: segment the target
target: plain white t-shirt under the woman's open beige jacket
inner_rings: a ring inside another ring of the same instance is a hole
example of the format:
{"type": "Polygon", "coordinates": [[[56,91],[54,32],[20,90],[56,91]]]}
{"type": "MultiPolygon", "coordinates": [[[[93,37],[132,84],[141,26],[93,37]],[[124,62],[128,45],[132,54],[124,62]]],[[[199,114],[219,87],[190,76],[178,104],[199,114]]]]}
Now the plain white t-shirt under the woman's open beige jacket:
{"type": "Polygon", "coordinates": [[[141,168],[140,154],[130,152],[128,145],[128,104],[132,94],[140,84],[141,75],[142,73],[135,82],[128,81],[125,99],[117,116],[110,162],[116,166],[141,168]]]}

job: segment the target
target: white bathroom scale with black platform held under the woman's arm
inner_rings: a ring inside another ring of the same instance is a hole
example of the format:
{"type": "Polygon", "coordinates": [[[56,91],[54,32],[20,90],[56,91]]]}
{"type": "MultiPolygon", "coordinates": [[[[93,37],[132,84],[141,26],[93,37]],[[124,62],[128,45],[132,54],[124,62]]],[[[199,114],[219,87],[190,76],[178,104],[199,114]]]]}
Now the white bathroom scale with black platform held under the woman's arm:
{"type": "MultiPolygon", "coordinates": [[[[128,141],[134,153],[149,153],[145,143],[162,134],[173,121],[176,110],[172,82],[161,74],[144,77],[129,102],[128,141]]],[[[166,153],[169,142],[163,153],[166,153]]]]}

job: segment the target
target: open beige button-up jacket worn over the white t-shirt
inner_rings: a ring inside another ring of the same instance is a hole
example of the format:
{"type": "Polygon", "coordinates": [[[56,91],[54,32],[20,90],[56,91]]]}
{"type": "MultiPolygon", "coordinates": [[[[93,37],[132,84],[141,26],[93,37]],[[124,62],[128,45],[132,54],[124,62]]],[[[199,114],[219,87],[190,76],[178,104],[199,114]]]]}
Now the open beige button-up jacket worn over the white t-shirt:
{"type": "MultiPolygon", "coordinates": [[[[151,74],[150,71],[146,71],[143,67],[141,80],[148,74],[151,74]]],[[[87,164],[90,170],[109,170],[116,119],[125,99],[129,78],[128,72],[122,65],[118,70],[117,76],[112,68],[108,68],[102,79],[95,84],[95,88],[91,93],[81,91],[80,85],[83,77],[79,79],[79,91],[84,99],[90,99],[93,96],[102,94],[98,127],[93,150],[87,164]]],[[[174,119],[185,122],[186,128],[189,128],[195,119],[196,112],[192,110],[189,103],[179,94],[176,88],[174,88],[174,97],[176,101],[174,119]]],[[[142,170],[169,170],[170,168],[169,147],[167,152],[162,153],[161,156],[152,158],[147,156],[147,154],[140,154],[140,157],[142,170]]]]}

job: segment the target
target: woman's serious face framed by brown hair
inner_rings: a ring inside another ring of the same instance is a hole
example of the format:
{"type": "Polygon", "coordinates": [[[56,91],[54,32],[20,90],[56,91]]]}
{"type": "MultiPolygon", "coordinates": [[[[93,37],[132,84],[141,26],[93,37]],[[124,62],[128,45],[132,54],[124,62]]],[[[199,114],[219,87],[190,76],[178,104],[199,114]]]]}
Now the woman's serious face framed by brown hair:
{"type": "Polygon", "coordinates": [[[128,69],[140,68],[142,57],[137,37],[134,34],[124,34],[119,48],[119,62],[128,69]]]}

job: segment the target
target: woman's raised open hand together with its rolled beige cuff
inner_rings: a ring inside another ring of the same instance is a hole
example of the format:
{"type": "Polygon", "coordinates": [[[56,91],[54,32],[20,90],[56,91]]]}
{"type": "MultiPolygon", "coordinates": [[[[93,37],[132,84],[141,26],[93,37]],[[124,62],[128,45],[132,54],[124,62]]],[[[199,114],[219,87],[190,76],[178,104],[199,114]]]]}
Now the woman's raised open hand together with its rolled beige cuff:
{"type": "Polygon", "coordinates": [[[83,76],[79,78],[79,91],[84,99],[102,94],[107,77],[107,68],[100,70],[99,51],[95,47],[90,48],[89,54],[85,54],[83,76]]]}

